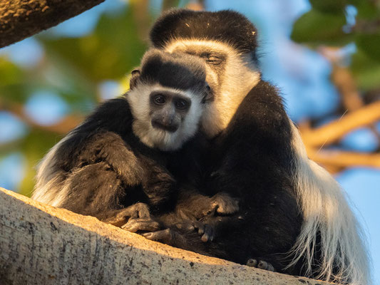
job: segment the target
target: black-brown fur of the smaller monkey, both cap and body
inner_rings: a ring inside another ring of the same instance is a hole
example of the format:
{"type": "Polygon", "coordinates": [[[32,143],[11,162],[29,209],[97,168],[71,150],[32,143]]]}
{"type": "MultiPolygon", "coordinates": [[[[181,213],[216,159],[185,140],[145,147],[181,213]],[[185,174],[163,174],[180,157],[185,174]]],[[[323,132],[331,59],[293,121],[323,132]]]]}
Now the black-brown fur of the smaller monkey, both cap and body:
{"type": "MultiPolygon", "coordinates": [[[[158,82],[205,95],[202,64],[188,55],[148,51],[141,71],[133,72],[133,86],[158,82]]],[[[193,197],[198,195],[191,185],[200,182],[199,161],[205,149],[201,134],[172,152],[144,145],[133,133],[128,95],[102,103],[71,131],[54,150],[48,169],[52,172],[48,179],[55,177],[55,184],[62,186],[57,195],[62,189],[67,190],[60,207],[118,226],[130,218],[150,219],[150,212],[160,215],[174,211],[177,200],[188,196],[187,191],[193,197]]],[[[190,207],[197,207],[204,216],[204,211],[215,207],[215,199],[198,196],[203,202],[196,198],[190,207]],[[200,204],[204,205],[202,209],[200,204]]]]}

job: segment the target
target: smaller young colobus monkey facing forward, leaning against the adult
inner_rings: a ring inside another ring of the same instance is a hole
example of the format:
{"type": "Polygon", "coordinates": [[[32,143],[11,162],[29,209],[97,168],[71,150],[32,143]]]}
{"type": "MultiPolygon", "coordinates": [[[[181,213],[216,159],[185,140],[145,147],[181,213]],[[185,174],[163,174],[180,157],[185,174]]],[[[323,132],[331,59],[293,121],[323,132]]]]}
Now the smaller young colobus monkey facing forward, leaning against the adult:
{"type": "MultiPolygon", "coordinates": [[[[145,53],[140,71],[133,71],[130,86],[48,152],[33,199],[131,231],[160,229],[150,210],[174,209],[181,183],[196,179],[202,145],[197,128],[212,93],[199,58],[154,49],[145,53]]],[[[190,204],[192,212],[237,210],[226,195],[199,199],[190,204]]]]}

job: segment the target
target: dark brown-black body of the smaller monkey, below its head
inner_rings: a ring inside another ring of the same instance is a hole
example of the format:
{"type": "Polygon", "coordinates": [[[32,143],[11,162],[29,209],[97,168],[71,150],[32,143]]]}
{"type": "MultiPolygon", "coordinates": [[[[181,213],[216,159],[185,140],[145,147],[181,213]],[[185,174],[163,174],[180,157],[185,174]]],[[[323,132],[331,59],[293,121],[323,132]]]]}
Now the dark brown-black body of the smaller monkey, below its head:
{"type": "Polygon", "coordinates": [[[196,148],[201,140],[162,152],[133,135],[132,121],[126,98],[108,100],[61,143],[56,172],[70,184],[61,207],[101,220],[138,202],[148,204],[154,214],[174,209],[178,185],[197,172],[194,154],[200,154],[196,148]]]}

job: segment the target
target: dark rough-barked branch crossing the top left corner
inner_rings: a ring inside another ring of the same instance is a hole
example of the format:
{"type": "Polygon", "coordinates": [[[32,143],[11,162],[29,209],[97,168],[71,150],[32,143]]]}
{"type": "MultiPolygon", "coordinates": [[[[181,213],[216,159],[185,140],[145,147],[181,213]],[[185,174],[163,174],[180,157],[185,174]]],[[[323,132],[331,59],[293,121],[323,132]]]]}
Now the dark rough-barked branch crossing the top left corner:
{"type": "Polygon", "coordinates": [[[0,48],[51,28],[104,0],[1,0],[0,48]]]}

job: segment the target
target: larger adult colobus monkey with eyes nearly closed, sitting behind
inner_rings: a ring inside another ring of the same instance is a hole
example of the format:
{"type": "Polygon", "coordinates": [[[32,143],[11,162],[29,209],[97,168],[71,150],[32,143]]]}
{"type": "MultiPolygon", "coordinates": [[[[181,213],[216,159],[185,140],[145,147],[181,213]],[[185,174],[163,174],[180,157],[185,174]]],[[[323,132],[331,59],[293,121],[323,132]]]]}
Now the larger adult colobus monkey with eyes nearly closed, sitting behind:
{"type": "Polygon", "coordinates": [[[255,26],[234,11],[172,10],[156,21],[150,39],[155,48],[207,63],[215,100],[205,110],[202,130],[210,138],[219,134],[207,185],[241,199],[240,213],[224,218],[222,235],[194,250],[242,264],[269,261],[289,274],[367,284],[359,224],[334,178],[308,159],[278,91],[260,79],[255,26]]]}

